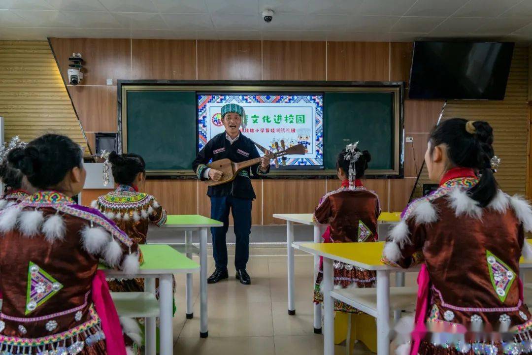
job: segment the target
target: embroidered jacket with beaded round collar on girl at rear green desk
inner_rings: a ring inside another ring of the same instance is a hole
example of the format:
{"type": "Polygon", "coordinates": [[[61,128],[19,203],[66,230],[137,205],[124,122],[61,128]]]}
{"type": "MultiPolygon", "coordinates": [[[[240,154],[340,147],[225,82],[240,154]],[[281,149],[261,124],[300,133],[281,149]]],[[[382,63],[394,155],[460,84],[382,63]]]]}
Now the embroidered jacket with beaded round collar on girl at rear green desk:
{"type": "Polygon", "coordinates": [[[112,219],[138,244],[146,244],[149,223],[161,227],[167,220],[166,211],[155,197],[129,185],[118,185],[116,190],[93,201],[92,207],[112,219]]]}

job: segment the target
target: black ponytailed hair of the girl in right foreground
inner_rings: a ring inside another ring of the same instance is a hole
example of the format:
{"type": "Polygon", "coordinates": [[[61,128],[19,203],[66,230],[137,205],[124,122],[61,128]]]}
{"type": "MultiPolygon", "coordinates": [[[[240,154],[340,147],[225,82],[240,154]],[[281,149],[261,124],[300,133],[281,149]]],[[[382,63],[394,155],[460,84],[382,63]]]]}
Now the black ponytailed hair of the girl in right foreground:
{"type": "Polygon", "coordinates": [[[429,142],[430,154],[434,147],[445,144],[447,157],[453,165],[451,167],[469,167],[477,172],[480,179],[469,189],[468,194],[480,207],[486,207],[498,188],[491,166],[495,155],[492,126],[484,121],[448,119],[433,128],[429,142]]]}

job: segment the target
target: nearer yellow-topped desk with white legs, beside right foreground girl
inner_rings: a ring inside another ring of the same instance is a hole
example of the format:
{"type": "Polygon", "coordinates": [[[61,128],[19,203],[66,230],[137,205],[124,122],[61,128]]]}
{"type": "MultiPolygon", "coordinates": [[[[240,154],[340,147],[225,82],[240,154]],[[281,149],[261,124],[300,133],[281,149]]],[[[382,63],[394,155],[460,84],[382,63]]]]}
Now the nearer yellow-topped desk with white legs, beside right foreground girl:
{"type": "MultiPolygon", "coordinates": [[[[334,299],[346,302],[351,306],[377,318],[377,355],[389,355],[389,315],[390,290],[392,290],[395,304],[400,309],[405,298],[412,299],[417,294],[417,288],[391,288],[390,271],[417,272],[419,266],[408,269],[398,269],[381,263],[384,242],[375,243],[293,243],[293,247],[323,257],[323,353],[334,355],[334,299]],[[333,289],[334,260],[358,266],[377,272],[377,288],[375,289],[333,289]],[[414,292],[415,291],[415,292],[414,292]]],[[[532,260],[522,260],[521,269],[532,268],[532,260]]],[[[406,302],[408,303],[408,302],[406,302]]]]}

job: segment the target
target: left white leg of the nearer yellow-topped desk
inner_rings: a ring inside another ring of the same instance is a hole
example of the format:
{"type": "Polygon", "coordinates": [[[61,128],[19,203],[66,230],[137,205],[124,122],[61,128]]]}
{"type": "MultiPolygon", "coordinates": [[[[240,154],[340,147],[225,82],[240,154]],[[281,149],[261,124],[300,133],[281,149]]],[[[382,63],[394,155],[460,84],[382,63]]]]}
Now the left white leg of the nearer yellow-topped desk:
{"type": "MultiPolygon", "coordinates": [[[[334,355],[334,300],[330,296],[332,290],[332,259],[323,258],[323,354],[334,355]]],[[[379,353],[379,355],[381,355],[379,353]]]]}

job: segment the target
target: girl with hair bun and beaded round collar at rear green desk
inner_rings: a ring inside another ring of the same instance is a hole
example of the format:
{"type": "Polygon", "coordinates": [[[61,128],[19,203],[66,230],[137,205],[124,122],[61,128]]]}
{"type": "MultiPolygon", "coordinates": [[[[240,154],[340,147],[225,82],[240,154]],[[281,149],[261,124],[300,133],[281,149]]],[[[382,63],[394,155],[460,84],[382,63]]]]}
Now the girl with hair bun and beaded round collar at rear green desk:
{"type": "MultiPolygon", "coordinates": [[[[109,154],[109,162],[117,188],[98,197],[92,207],[97,208],[130,239],[138,244],[146,244],[148,225],[164,225],[167,213],[155,197],[139,192],[146,179],[146,163],[137,154],[109,154]]],[[[144,291],[144,279],[114,279],[109,281],[111,291],[144,291]]]]}

